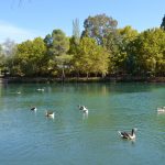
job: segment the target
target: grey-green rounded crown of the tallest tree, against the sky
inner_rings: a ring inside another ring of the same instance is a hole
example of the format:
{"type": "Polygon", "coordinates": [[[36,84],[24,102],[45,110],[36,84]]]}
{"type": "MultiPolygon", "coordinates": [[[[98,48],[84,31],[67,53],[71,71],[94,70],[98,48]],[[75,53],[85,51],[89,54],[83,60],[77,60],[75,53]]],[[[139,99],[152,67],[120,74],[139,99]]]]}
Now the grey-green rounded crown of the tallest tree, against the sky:
{"type": "Polygon", "coordinates": [[[92,37],[98,45],[103,45],[103,38],[117,29],[117,20],[113,20],[106,14],[88,16],[84,22],[82,36],[92,37]]]}

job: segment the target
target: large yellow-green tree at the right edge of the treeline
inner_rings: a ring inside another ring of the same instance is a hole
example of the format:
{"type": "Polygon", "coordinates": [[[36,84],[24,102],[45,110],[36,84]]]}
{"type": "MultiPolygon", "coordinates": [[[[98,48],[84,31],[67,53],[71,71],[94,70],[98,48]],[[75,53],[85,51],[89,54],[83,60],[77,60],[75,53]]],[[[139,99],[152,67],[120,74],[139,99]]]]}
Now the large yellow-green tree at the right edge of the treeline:
{"type": "Polygon", "coordinates": [[[142,75],[164,75],[165,31],[151,29],[142,32],[132,43],[130,52],[134,61],[134,73],[142,75]]]}

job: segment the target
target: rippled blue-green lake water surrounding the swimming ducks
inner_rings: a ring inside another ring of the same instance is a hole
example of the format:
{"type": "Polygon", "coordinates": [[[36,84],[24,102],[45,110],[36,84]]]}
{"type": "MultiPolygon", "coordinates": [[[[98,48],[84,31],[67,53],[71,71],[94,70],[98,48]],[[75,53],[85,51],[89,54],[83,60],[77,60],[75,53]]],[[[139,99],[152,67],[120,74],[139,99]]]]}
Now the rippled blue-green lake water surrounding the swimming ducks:
{"type": "Polygon", "coordinates": [[[164,165],[162,106],[165,84],[0,84],[0,164],[164,165]],[[119,136],[132,128],[135,141],[119,136]]]}

